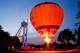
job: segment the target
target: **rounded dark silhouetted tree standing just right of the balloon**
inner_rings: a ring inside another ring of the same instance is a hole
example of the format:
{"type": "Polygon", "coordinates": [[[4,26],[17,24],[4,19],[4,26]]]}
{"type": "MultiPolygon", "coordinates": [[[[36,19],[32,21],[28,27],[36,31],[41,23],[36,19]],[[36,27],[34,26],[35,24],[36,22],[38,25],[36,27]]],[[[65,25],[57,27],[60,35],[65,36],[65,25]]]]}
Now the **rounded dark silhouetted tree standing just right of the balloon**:
{"type": "Polygon", "coordinates": [[[59,33],[58,39],[62,44],[66,44],[66,47],[70,45],[70,41],[76,41],[75,35],[69,29],[65,29],[59,33]]]}

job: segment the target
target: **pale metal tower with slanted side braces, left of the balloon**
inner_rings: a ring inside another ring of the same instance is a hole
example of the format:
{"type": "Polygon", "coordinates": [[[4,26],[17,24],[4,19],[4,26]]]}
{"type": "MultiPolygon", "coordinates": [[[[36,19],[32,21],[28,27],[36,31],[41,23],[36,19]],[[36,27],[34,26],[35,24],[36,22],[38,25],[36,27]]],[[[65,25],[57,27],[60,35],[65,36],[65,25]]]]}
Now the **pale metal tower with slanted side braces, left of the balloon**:
{"type": "Polygon", "coordinates": [[[27,46],[27,31],[28,31],[28,23],[23,21],[21,23],[21,26],[19,30],[16,33],[17,37],[22,37],[22,48],[25,48],[27,46]],[[23,29],[23,36],[20,36],[21,30],[23,29]]]}

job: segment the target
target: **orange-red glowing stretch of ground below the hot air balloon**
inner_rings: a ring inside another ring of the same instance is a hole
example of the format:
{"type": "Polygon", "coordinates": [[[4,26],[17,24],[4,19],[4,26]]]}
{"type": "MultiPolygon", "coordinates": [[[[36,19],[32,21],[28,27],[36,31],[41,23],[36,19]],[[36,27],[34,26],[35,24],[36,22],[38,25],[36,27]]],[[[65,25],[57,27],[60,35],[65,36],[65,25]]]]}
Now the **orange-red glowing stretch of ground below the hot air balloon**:
{"type": "Polygon", "coordinates": [[[16,53],[80,53],[79,50],[65,50],[65,51],[17,51],[16,53]]]}

